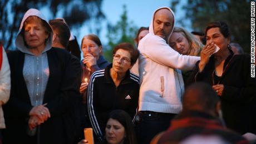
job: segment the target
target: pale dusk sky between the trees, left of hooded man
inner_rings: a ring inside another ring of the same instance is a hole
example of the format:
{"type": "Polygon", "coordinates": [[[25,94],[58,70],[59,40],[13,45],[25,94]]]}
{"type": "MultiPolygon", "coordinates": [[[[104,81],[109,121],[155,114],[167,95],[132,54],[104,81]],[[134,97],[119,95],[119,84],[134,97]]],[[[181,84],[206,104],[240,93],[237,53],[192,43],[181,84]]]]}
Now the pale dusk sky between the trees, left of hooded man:
{"type": "MultiPolygon", "coordinates": [[[[182,1],[182,4],[186,1],[182,1]]],[[[152,18],[152,13],[159,7],[170,7],[170,0],[104,0],[102,3],[102,11],[106,16],[106,20],[115,24],[119,21],[120,16],[123,12],[123,5],[126,4],[127,17],[129,22],[132,21],[137,27],[148,27],[152,18]]],[[[184,17],[185,12],[180,7],[177,8],[175,18],[180,19],[184,17]]],[[[102,43],[106,43],[106,23],[102,22],[102,31],[100,38],[102,43]]],[[[92,23],[93,25],[95,23],[92,23]]],[[[175,23],[179,26],[179,23],[175,23]]],[[[186,26],[190,30],[190,26],[186,26]]],[[[88,33],[88,26],[85,24],[79,31],[78,42],[81,44],[82,37],[88,33]]]]}

